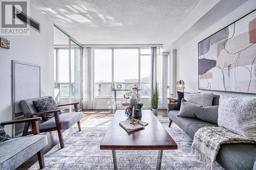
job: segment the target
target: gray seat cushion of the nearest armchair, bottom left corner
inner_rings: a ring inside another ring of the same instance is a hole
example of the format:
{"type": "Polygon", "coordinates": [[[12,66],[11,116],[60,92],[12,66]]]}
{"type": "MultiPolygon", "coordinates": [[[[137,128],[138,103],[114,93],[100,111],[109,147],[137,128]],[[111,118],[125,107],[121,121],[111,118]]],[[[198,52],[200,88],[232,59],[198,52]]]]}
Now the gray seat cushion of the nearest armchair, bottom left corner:
{"type": "Polygon", "coordinates": [[[0,169],[15,169],[47,144],[44,134],[18,137],[0,143],[0,169]]]}

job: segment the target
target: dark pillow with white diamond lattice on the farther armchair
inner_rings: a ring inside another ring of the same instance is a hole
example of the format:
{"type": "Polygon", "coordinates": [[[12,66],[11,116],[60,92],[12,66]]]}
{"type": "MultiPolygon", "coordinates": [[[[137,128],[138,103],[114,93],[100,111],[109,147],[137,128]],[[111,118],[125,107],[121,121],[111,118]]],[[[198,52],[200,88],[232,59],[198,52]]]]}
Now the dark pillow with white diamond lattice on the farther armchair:
{"type": "MultiPolygon", "coordinates": [[[[36,109],[39,112],[45,112],[45,111],[51,111],[51,110],[58,109],[55,101],[53,100],[53,98],[51,96],[49,98],[43,98],[43,99],[33,101],[32,103],[35,105],[36,109]]],[[[43,114],[42,118],[44,118],[45,120],[49,120],[53,116],[54,116],[54,113],[43,114]]]]}

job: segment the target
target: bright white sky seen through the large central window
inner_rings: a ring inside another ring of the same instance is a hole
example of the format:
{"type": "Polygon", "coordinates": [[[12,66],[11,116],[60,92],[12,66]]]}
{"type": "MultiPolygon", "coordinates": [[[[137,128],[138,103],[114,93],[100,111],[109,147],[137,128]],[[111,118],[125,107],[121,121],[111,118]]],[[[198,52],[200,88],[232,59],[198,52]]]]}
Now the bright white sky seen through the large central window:
{"type": "MultiPolygon", "coordinates": [[[[141,78],[149,77],[151,73],[150,48],[141,56],[141,78]]],[[[95,59],[95,82],[112,82],[112,50],[96,49],[95,59]]],[[[138,79],[139,72],[138,49],[114,49],[114,81],[124,82],[127,79],[138,79]]]]}

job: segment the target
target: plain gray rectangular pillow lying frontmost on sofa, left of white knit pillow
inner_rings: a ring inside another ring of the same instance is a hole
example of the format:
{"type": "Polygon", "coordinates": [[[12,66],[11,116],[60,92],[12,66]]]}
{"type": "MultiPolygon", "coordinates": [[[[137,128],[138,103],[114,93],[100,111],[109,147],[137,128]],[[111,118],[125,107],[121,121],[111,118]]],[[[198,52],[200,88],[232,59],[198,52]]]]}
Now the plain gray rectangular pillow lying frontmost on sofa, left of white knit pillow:
{"type": "Polygon", "coordinates": [[[198,118],[200,120],[204,120],[205,122],[217,124],[218,108],[219,106],[203,107],[191,102],[186,102],[184,99],[182,99],[178,116],[198,118]]]}

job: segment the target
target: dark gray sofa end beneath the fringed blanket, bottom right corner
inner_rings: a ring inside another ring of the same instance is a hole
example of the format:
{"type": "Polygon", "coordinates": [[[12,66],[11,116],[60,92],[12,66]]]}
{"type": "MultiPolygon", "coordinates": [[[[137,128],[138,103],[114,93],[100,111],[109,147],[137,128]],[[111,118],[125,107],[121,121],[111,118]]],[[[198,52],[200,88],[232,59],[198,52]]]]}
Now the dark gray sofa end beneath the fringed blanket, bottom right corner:
{"type": "Polygon", "coordinates": [[[256,160],[256,144],[228,143],[222,144],[216,161],[224,169],[253,169],[256,160]]]}

